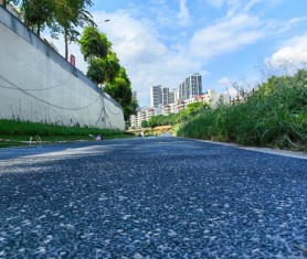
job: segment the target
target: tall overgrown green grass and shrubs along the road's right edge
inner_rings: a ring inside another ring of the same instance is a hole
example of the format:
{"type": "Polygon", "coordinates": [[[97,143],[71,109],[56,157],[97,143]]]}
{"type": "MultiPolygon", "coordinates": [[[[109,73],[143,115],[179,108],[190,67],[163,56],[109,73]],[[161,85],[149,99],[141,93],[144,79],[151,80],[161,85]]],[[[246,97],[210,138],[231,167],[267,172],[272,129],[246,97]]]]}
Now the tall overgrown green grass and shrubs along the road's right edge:
{"type": "Polygon", "coordinates": [[[205,110],[178,136],[307,150],[307,72],[271,77],[245,102],[205,110]]]}

